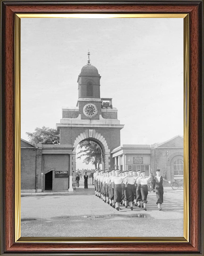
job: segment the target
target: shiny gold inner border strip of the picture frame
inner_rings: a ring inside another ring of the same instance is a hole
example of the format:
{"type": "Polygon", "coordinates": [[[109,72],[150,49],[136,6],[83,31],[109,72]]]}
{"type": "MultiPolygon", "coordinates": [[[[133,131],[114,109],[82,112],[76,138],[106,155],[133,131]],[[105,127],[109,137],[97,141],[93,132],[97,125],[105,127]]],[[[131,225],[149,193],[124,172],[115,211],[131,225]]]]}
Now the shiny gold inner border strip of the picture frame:
{"type": "Polygon", "coordinates": [[[15,242],[189,242],[189,14],[15,14],[15,242]],[[20,19],[183,18],[184,19],[184,237],[21,237],[20,236],[20,19]]]}

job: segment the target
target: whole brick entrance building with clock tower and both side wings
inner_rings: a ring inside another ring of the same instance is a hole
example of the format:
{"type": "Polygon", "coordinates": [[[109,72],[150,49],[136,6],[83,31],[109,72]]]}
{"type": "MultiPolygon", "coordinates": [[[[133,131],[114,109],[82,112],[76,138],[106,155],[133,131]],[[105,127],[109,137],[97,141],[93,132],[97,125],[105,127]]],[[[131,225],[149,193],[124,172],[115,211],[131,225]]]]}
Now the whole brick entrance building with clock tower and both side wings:
{"type": "MultiPolygon", "coordinates": [[[[62,108],[57,123],[59,145],[33,145],[21,139],[21,191],[73,191],[76,177],[76,148],[94,141],[102,152],[102,169],[144,170],[146,176],[161,169],[173,181],[183,177],[183,137],[178,135],[154,145],[120,146],[120,130],[112,98],[100,97],[100,74],[87,65],[78,76],[78,101],[74,108],[62,108]]],[[[108,95],[105,95],[108,96],[108,95]]],[[[166,184],[164,184],[166,185],[166,184]]]]}

